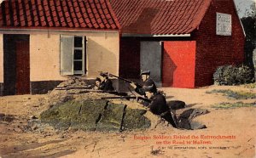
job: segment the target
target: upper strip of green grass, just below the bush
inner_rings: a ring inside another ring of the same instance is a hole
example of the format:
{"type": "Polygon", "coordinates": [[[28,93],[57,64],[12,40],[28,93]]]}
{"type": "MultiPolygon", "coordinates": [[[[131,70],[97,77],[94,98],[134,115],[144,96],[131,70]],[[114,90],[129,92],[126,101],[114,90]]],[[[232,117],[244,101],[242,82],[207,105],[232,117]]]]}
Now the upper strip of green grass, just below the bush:
{"type": "Polygon", "coordinates": [[[207,91],[206,93],[224,93],[225,96],[231,99],[256,99],[255,93],[247,93],[247,92],[235,92],[232,90],[220,90],[213,89],[212,91],[207,91]]]}

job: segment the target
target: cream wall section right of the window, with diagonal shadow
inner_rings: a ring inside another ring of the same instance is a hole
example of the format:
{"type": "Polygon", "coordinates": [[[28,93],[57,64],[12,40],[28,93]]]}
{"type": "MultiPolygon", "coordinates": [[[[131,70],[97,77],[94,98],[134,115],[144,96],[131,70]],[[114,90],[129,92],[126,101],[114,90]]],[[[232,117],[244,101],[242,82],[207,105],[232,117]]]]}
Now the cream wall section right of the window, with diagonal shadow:
{"type": "Polygon", "coordinates": [[[87,43],[88,76],[98,76],[98,71],[119,75],[119,33],[90,33],[87,43]]]}

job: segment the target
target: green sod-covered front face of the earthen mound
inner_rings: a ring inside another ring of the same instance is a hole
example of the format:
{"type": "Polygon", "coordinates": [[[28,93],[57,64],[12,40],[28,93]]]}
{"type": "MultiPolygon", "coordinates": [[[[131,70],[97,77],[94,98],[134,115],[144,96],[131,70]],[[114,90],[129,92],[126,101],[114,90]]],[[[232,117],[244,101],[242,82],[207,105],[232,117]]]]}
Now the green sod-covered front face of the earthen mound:
{"type": "Polygon", "coordinates": [[[71,100],[45,110],[40,120],[62,130],[123,131],[150,127],[146,112],[108,100],[71,100]]]}

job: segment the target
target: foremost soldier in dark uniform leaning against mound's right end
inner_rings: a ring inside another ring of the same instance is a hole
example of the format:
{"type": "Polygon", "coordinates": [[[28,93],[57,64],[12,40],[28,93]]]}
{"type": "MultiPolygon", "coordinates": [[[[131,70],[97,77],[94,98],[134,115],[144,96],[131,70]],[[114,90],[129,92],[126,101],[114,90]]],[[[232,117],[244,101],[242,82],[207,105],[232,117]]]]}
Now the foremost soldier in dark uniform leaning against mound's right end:
{"type": "Polygon", "coordinates": [[[170,110],[169,106],[166,104],[165,96],[160,93],[156,92],[154,87],[149,87],[145,89],[146,97],[152,100],[148,105],[148,109],[155,115],[158,115],[164,118],[166,121],[172,124],[172,127],[177,127],[177,119],[172,111],[170,110]]]}

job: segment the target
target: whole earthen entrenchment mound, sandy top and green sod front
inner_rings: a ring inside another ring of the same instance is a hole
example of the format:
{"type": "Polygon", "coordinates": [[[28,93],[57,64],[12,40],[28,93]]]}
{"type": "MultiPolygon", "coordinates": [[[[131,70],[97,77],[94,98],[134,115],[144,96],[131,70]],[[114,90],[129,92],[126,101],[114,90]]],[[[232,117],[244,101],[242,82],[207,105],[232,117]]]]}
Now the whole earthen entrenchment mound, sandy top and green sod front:
{"type": "MultiPolygon", "coordinates": [[[[40,121],[48,123],[55,129],[125,131],[168,126],[168,122],[161,119],[160,116],[153,115],[136,100],[102,99],[117,95],[90,92],[87,88],[88,85],[78,78],[62,82],[58,87],[49,93],[49,108],[39,116],[40,121]]],[[[177,100],[172,101],[172,106],[179,107],[180,105],[182,105],[181,108],[184,108],[185,103],[177,100]]],[[[191,114],[191,116],[193,115],[191,114]]],[[[192,118],[190,120],[189,118],[177,119],[178,128],[194,129],[194,127],[201,127],[201,124],[197,125],[192,122],[192,118]]],[[[172,126],[170,125],[170,127],[172,126]]]]}

